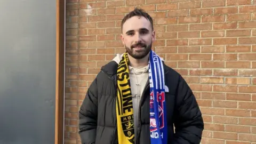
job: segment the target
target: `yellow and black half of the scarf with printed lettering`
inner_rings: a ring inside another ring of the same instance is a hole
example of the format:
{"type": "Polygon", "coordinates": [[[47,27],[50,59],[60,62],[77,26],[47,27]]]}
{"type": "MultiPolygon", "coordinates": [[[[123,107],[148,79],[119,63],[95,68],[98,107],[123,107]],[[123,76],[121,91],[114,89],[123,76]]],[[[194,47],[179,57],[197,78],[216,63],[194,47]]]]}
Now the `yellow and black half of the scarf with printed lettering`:
{"type": "Polygon", "coordinates": [[[117,69],[116,100],[118,143],[122,144],[134,143],[132,91],[128,63],[128,55],[124,53],[117,69]]]}

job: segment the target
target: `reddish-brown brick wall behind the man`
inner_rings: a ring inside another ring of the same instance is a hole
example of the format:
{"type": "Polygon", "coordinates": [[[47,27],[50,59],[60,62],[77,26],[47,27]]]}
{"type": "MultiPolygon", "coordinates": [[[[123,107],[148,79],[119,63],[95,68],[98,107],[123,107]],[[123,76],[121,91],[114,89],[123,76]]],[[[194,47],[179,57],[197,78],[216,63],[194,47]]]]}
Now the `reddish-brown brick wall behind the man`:
{"type": "Polygon", "coordinates": [[[202,143],[256,143],[256,2],[66,2],[65,143],[81,143],[77,111],[100,67],[124,52],[121,20],[134,5],[154,18],[154,50],[194,90],[205,122],[202,143]]]}

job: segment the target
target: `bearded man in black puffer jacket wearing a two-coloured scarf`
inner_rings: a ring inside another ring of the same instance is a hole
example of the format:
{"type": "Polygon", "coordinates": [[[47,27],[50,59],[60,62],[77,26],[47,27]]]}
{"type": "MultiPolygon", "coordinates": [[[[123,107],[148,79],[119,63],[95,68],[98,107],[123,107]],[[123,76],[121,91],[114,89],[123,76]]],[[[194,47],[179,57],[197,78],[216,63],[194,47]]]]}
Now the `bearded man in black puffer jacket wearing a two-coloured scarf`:
{"type": "Polygon", "coordinates": [[[134,9],[124,17],[126,52],[101,68],[79,110],[83,144],[201,142],[204,123],[195,96],[151,50],[155,37],[148,13],[134,9]]]}

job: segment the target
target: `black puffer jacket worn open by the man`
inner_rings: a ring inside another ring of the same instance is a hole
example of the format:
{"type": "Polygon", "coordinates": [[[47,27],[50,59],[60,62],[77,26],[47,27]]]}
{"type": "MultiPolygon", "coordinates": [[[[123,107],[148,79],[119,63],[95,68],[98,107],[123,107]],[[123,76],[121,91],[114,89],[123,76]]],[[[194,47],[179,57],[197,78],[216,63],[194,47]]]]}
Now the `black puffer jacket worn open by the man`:
{"type": "MultiPolygon", "coordinates": [[[[117,63],[101,68],[92,82],[79,110],[79,135],[82,144],[117,144],[116,71],[117,63]]],[[[164,65],[169,144],[199,144],[204,129],[201,111],[185,80],[172,68],[164,65]],[[175,133],[173,129],[175,126],[175,133]]],[[[149,81],[143,91],[139,110],[136,144],[150,144],[149,81]]],[[[122,144],[122,143],[120,143],[122,144]]]]}

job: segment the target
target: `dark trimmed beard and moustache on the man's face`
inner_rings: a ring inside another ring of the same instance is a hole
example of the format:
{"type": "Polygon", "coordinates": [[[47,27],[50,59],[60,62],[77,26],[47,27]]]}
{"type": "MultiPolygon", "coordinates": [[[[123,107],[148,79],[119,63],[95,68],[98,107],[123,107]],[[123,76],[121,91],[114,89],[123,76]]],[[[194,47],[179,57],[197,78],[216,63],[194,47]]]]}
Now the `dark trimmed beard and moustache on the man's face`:
{"type": "Polygon", "coordinates": [[[125,45],[126,52],[129,55],[131,55],[131,57],[133,57],[134,59],[142,59],[146,57],[146,55],[148,55],[148,53],[150,52],[151,47],[152,47],[152,43],[150,43],[149,45],[146,45],[143,43],[137,43],[132,45],[130,48],[125,45]],[[137,46],[142,47],[142,49],[139,51],[135,51],[134,47],[137,47],[137,46]]]}

